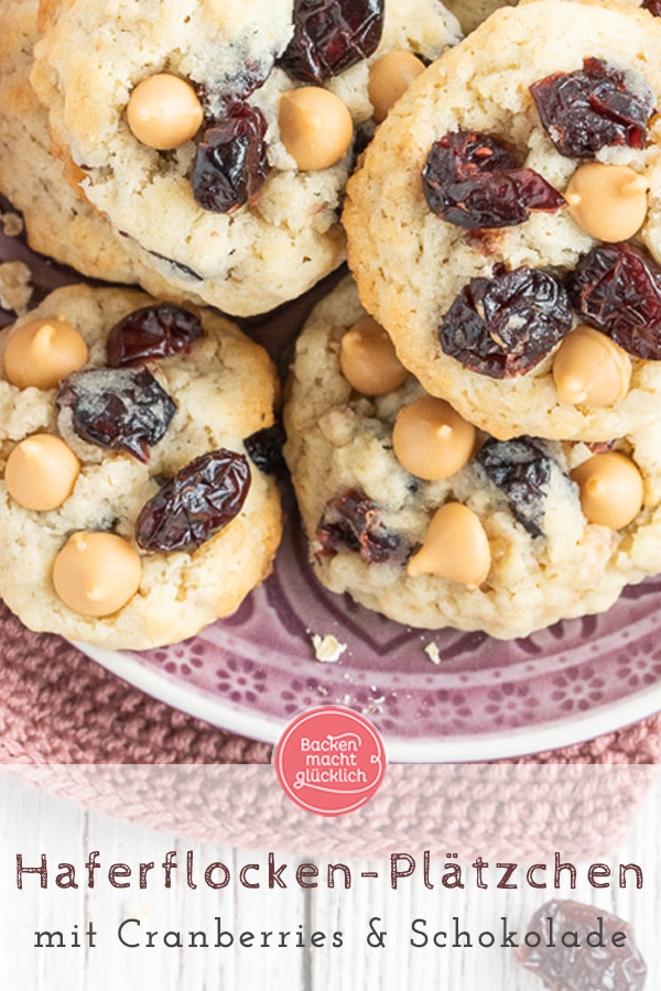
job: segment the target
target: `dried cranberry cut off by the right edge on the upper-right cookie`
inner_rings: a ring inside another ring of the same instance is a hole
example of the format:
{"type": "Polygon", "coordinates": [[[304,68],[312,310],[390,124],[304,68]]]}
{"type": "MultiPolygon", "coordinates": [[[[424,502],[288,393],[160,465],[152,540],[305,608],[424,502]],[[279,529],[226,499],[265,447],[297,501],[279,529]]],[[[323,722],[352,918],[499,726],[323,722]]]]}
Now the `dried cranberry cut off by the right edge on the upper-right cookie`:
{"type": "Polygon", "coordinates": [[[587,324],[648,361],[661,360],[661,268],[635,244],[597,244],[567,280],[587,324]]]}

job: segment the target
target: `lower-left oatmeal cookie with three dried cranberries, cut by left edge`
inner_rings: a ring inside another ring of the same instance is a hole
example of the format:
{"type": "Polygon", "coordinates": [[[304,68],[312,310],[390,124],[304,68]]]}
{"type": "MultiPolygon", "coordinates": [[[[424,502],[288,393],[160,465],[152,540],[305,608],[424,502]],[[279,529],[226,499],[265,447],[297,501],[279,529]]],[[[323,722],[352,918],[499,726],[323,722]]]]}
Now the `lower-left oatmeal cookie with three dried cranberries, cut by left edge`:
{"type": "Polygon", "coordinates": [[[56,290],[0,335],[0,595],[34,630],[111,649],[192,636],[270,571],[266,351],[123,288],[56,290]]]}

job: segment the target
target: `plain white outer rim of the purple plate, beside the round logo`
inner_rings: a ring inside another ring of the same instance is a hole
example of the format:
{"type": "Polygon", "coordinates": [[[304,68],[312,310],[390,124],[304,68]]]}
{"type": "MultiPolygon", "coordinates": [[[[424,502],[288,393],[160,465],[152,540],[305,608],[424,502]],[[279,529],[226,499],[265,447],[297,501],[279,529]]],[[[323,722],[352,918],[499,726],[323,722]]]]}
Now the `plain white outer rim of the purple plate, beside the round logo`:
{"type": "MultiPolygon", "coordinates": [[[[218,698],[205,695],[194,685],[177,682],[158,668],[142,664],[134,655],[79,641],[72,643],[83,654],[133,687],[210,726],[274,744],[288,725],[288,720],[282,718],[269,719],[263,715],[256,716],[236,709],[218,698]]],[[[589,711],[567,714],[566,719],[532,727],[416,740],[389,739],[383,733],[381,736],[390,763],[481,763],[574,747],[595,737],[616,732],[660,710],[661,683],[658,683],[589,711]],[[567,729],[572,726],[573,729],[567,734],[567,729]]]]}

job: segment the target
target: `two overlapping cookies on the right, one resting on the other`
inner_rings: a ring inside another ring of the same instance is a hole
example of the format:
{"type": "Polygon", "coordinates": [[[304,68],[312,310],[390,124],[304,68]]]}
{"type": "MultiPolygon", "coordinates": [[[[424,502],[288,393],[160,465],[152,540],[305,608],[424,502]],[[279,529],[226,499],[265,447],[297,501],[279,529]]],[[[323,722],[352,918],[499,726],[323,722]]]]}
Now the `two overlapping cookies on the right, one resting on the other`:
{"type": "Polygon", "coordinates": [[[647,11],[505,8],[377,131],[286,411],[333,590],[507,639],[661,570],[660,57],[647,11]]]}

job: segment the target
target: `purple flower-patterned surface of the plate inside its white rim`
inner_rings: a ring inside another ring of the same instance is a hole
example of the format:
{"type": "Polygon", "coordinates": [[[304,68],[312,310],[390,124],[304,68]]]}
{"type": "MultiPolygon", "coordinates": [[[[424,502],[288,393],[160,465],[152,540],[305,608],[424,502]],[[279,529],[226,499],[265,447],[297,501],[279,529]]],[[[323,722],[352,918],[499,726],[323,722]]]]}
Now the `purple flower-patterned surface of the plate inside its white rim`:
{"type": "Polygon", "coordinates": [[[412,630],[318,585],[291,502],[288,513],[274,574],[231,619],[185,643],[133,655],[137,663],[214,698],[219,710],[266,722],[284,726],[304,708],[346,705],[393,744],[425,741],[427,760],[436,744],[447,760],[453,738],[501,737],[483,758],[519,752],[520,742],[508,742],[519,730],[546,728],[555,739],[564,726],[570,742],[584,716],[661,685],[659,579],[627,589],[606,613],[522,640],[412,630]],[[322,663],[313,633],[333,634],[347,649],[322,663]],[[430,643],[437,664],[424,650],[430,643]]]}

